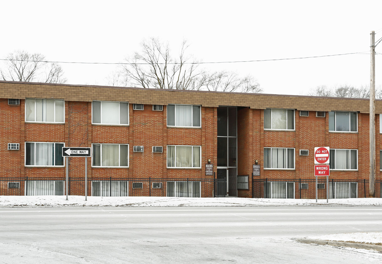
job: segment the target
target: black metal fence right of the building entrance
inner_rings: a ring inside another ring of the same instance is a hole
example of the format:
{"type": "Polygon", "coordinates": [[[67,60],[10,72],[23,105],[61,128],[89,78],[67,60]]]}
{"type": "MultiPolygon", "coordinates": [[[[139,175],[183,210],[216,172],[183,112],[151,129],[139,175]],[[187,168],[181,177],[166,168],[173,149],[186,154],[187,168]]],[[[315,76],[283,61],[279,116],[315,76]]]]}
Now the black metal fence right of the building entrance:
{"type": "MultiPolygon", "coordinates": [[[[381,196],[382,181],[376,180],[376,197],[381,196]]],[[[253,198],[316,199],[316,179],[253,179],[253,198]]],[[[317,180],[317,198],[369,198],[369,180],[317,180]],[[329,186],[328,186],[329,185],[329,186]]]]}

